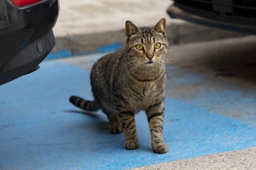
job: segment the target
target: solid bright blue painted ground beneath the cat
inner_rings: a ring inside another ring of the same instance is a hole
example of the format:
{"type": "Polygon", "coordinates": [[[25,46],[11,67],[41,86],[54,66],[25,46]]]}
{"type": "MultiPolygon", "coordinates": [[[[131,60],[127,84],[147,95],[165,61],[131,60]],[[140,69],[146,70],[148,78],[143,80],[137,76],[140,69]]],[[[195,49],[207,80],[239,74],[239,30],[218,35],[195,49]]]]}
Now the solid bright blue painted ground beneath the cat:
{"type": "Polygon", "coordinates": [[[0,86],[0,169],[129,169],[256,146],[256,126],[166,97],[170,151],[152,152],[142,112],[136,116],[140,148],[127,151],[123,134],[109,133],[104,114],[80,112],[70,95],[92,99],[89,71],[61,61],[42,62],[38,71],[0,86]]]}

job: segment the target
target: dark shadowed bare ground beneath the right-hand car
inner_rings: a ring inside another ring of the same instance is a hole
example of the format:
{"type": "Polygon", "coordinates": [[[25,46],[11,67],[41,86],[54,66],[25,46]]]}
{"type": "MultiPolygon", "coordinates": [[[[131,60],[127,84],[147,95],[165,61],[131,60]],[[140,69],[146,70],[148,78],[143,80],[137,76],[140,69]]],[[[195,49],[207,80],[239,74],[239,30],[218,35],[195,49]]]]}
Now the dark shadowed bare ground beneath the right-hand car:
{"type": "Polygon", "coordinates": [[[256,87],[256,36],[170,47],[173,65],[187,71],[256,87]]]}

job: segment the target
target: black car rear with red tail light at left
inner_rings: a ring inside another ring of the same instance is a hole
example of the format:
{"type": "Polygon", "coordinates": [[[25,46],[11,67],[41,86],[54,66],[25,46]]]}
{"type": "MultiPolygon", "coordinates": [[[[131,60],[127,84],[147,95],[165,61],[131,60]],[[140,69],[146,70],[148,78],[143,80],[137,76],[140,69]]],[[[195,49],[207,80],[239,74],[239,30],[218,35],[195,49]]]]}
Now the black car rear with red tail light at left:
{"type": "Polygon", "coordinates": [[[58,0],[0,0],[0,85],[39,68],[58,15],[58,0]]]}

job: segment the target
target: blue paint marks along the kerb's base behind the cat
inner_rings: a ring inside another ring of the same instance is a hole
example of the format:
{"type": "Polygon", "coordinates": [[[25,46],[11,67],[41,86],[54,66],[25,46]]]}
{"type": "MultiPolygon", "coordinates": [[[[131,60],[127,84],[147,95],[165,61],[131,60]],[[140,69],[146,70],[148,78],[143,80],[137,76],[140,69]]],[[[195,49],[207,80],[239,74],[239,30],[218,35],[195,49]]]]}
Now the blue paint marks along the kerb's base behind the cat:
{"type": "Polygon", "coordinates": [[[96,51],[84,51],[84,52],[72,52],[71,50],[59,50],[57,52],[51,52],[46,60],[56,59],[56,58],[67,58],[71,56],[82,56],[87,54],[96,54],[102,52],[115,52],[122,48],[120,42],[115,42],[113,44],[108,44],[106,46],[99,46],[96,51]]]}

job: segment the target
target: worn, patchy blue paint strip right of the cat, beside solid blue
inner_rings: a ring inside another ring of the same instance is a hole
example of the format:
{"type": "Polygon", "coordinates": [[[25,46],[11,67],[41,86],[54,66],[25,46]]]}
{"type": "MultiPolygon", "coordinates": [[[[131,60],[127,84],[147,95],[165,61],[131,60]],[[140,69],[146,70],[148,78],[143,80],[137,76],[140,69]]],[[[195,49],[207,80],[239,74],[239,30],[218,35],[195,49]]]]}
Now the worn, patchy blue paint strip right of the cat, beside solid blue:
{"type": "Polygon", "coordinates": [[[169,96],[256,126],[255,87],[245,85],[243,81],[230,83],[177,67],[168,67],[167,70],[169,96]]]}

